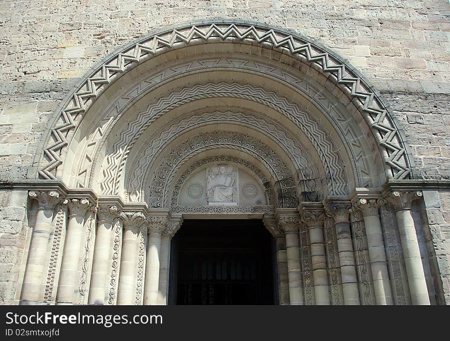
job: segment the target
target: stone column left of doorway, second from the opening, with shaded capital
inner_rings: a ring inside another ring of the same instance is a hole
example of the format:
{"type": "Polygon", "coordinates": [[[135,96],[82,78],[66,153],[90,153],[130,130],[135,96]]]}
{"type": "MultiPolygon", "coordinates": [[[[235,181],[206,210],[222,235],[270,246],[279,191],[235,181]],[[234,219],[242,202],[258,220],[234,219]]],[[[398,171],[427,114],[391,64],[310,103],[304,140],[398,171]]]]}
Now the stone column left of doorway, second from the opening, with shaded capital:
{"type": "Polygon", "coordinates": [[[161,234],[168,217],[147,217],[148,247],[145,268],[144,305],[155,305],[160,281],[161,234]]]}

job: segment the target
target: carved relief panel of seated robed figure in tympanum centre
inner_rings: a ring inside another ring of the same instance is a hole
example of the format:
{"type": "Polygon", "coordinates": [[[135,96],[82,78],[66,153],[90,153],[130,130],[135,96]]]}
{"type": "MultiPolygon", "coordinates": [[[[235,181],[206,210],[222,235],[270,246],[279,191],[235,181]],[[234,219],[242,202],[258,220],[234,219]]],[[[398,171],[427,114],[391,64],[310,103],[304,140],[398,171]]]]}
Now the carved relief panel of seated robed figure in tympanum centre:
{"type": "Polygon", "coordinates": [[[208,171],[208,204],[237,205],[236,169],[228,172],[224,163],[217,166],[217,172],[208,171]]]}

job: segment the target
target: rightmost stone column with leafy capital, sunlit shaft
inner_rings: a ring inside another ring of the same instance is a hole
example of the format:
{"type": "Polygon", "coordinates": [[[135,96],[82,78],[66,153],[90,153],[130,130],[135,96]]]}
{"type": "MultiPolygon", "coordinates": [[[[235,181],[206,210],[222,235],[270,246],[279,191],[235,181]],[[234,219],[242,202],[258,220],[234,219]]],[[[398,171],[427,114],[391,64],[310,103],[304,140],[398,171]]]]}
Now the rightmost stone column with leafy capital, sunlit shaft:
{"type": "Polygon", "coordinates": [[[411,204],[413,200],[421,197],[421,191],[395,190],[390,193],[387,199],[394,206],[395,215],[397,216],[404,264],[408,274],[411,302],[413,305],[430,305],[430,297],[426,287],[416,228],[411,215],[411,204]]]}

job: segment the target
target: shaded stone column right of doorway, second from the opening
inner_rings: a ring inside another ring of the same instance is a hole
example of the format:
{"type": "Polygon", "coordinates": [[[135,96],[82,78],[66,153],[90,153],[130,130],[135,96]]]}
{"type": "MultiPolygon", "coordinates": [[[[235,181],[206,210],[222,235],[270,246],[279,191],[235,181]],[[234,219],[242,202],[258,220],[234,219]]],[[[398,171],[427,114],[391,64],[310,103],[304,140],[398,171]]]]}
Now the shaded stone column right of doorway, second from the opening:
{"type": "Polygon", "coordinates": [[[298,212],[288,215],[277,212],[279,228],[286,239],[287,279],[289,287],[289,304],[303,305],[302,270],[300,265],[300,217],[298,212]]]}

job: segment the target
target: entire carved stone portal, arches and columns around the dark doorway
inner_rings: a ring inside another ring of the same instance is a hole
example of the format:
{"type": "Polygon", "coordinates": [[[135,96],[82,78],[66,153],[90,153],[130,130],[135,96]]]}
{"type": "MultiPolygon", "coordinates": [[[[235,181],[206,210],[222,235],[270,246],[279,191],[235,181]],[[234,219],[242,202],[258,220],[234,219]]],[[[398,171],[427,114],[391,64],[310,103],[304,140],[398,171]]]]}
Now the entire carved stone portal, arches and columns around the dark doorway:
{"type": "Polygon", "coordinates": [[[412,177],[395,122],[314,42],[260,24],[180,25],[103,60],[60,108],[30,192],[35,230],[56,237],[47,251],[33,233],[22,303],[166,303],[170,239],[211,216],[264,221],[281,304],[430,302],[411,225],[421,193],[389,185],[412,177]],[[265,204],[179,205],[184,181],[216,161],[255,176],[265,204]],[[395,271],[387,230],[406,263],[395,271]]]}

